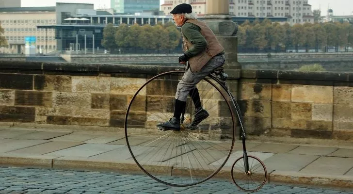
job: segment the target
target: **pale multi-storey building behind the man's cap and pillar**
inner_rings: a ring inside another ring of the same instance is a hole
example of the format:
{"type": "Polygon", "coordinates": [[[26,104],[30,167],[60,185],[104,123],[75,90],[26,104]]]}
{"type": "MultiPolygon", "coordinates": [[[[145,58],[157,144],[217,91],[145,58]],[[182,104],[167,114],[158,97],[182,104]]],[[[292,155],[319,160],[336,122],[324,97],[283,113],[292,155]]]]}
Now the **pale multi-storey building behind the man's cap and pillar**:
{"type": "MultiPolygon", "coordinates": [[[[165,15],[180,4],[189,3],[199,16],[206,14],[206,0],[165,0],[160,10],[165,15]]],[[[287,17],[290,25],[314,23],[308,0],[229,0],[229,14],[239,17],[287,17]]]]}

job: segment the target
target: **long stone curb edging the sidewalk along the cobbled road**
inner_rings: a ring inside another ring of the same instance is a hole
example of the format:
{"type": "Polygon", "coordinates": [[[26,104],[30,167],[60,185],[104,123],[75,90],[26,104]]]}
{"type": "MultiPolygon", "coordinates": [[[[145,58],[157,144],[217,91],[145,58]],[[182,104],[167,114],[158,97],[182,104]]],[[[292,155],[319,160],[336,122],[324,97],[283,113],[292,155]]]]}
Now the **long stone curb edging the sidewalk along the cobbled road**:
{"type": "MultiPolygon", "coordinates": [[[[116,172],[144,175],[144,172],[133,162],[117,161],[99,161],[93,159],[84,159],[77,157],[56,157],[43,155],[0,155],[0,166],[2,167],[25,167],[25,168],[44,168],[60,170],[79,170],[79,171],[97,171],[97,172],[116,172]]],[[[150,166],[151,169],[154,166],[150,166]]],[[[172,167],[166,166],[163,172],[170,175],[172,167]]],[[[160,172],[160,171],[159,171],[160,172]]],[[[213,178],[231,180],[230,168],[224,167],[213,178]]],[[[315,186],[334,186],[353,188],[353,177],[351,176],[330,176],[320,174],[305,174],[305,172],[293,171],[274,171],[269,172],[268,183],[290,183],[315,186]]]]}

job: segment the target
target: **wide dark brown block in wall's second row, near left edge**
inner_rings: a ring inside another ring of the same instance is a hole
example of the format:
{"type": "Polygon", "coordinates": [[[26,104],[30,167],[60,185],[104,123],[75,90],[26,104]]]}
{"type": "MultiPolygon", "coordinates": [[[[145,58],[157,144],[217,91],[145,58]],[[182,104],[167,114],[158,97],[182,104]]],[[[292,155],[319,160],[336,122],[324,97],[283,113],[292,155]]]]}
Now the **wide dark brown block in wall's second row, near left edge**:
{"type": "Polygon", "coordinates": [[[15,91],[15,105],[21,106],[52,106],[51,92],[15,91]]]}

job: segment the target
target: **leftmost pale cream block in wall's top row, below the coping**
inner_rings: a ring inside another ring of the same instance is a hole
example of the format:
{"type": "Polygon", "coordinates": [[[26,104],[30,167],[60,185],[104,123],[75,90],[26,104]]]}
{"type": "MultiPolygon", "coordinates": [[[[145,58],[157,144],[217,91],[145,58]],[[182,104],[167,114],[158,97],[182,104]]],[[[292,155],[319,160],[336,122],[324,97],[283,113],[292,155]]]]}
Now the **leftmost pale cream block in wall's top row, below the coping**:
{"type": "Polygon", "coordinates": [[[110,93],[110,78],[72,76],[72,92],[110,93]]]}

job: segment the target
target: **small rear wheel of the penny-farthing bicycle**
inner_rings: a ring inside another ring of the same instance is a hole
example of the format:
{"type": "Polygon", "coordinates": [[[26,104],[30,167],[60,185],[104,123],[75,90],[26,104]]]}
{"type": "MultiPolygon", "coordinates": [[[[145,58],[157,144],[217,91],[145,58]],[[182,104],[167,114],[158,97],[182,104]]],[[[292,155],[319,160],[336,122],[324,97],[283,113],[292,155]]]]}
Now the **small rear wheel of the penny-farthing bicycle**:
{"type": "Polygon", "coordinates": [[[249,171],[245,172],[244,157],[233,163],[231,176],[237,187],[245,192],[255,192],[266,183],[267,170],[265,164],[255,156],[248,156],[249,171]]]}

